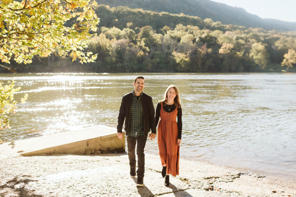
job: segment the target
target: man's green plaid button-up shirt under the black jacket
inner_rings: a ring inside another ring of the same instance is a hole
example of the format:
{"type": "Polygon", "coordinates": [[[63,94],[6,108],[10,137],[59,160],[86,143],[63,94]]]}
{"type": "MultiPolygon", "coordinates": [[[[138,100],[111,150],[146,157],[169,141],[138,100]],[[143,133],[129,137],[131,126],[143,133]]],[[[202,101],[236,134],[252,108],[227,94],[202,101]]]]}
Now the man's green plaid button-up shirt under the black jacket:
{"type": "Polygon", "coordinates": [[[137,100],[137,97],[133,94],[133,103],[131,104],[131,119],[128,129],[128,135],[131,137],[144,135],[144,115],[142,110],[141,98],[137,100]]]}

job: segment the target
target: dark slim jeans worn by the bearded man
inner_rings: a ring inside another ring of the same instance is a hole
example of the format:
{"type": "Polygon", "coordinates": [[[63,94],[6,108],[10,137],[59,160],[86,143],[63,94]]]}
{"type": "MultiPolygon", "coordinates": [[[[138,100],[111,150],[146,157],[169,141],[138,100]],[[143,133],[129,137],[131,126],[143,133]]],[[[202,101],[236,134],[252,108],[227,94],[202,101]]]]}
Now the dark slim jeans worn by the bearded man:
{"type": "Polygon", "coordinates": [[[147,141],[147,136],[131,137],[127,136],[126,141],[128,143],[128,159],[130,160],[130,167],[136,167],[136,142],[137,142],[137,155],[138,155],[138,170],[137,176],[144,177],[145,166],[145,154],[144,148],[147,141]]]}

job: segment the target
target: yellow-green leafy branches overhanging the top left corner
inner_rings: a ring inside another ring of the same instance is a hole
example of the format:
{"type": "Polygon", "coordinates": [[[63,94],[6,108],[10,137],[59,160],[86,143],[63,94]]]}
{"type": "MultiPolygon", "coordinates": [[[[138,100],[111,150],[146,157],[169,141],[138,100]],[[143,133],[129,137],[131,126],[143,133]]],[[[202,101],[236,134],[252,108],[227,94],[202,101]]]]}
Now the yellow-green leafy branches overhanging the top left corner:
{"type": "MultiPolygon", "coordinates": [[[[10,64],[28,64],[34,56],[70,53],[80,63],[94,62],[97,55],[83,48],[96,31],[99,18],[89,0],[14,0],[0,1],[0,59],[10,64]],[[73,25],[67,21],[75,19],[73,25]]],[[[1,64],[0,64],[1,65],[1,64]]],[[[9,70],[9,66],[1,65],[9,70]]]]}

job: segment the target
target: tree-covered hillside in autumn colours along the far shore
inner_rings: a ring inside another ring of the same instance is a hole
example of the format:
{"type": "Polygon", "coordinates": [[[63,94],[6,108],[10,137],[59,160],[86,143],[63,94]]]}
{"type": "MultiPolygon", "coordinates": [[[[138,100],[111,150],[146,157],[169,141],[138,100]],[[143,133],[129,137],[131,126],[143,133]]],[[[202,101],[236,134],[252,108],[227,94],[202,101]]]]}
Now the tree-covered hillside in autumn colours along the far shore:
{"type": "Polygon", "coordinates": [[[98,53],[96,63],[81,65],[68,56],[52,55],[13,66],[18,72],[295,71],[295,31],[105,5],[98,5],[96,14],[100,25],[88,44],[88,51],[98,53]]]}

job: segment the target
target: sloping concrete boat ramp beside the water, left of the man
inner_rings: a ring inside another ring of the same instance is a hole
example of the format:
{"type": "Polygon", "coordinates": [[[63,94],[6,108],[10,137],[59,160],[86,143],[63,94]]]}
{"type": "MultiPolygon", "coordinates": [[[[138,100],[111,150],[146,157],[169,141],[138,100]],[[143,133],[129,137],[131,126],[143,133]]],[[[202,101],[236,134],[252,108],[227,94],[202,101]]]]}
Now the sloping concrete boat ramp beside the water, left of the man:
{"type": "Polygon", "coordinates": [[[125,152],[125,135],[108,126],[93,126],[47,136],[7,142],[0,145],[0,155],[35,156],[53,154],[101,154],[125,152]]]}

